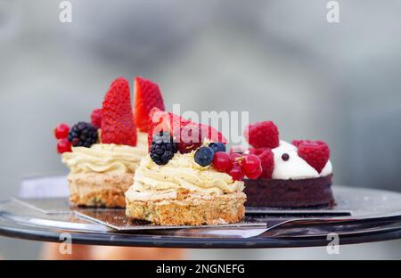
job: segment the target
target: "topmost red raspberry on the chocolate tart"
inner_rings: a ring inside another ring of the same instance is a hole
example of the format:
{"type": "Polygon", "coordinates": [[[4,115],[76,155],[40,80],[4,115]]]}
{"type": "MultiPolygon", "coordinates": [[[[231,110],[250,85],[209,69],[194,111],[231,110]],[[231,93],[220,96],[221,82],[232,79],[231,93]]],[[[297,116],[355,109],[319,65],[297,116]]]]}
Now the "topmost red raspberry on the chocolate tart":
{"type": "Polygon", "coordinates": [[[243,135],[254,148],[274,149],[279,146],[278,128],[272,121],[251,124],[245,129],[243,135]]]}

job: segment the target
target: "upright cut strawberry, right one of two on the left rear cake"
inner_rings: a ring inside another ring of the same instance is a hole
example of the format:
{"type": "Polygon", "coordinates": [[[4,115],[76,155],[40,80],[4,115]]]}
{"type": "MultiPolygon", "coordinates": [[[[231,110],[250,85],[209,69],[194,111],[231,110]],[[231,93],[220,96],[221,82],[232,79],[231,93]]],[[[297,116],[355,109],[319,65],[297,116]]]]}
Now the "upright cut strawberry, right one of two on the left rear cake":
{"type": "Polygon", "coordinates": [[[139,130],[149,131],[149,114],[154,107],[164,110],[159,86],[151,80],[135,78],[135,125],[139,130]]]}

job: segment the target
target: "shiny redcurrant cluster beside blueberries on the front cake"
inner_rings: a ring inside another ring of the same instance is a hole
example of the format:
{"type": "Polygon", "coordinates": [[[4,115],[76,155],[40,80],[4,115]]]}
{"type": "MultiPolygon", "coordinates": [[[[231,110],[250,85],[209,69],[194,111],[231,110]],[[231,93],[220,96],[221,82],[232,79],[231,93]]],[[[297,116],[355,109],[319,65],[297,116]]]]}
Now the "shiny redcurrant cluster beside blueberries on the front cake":
{"type": "Polygon", "coordinates": [[[256,179],[263,172],[258,156],[237,152],[230,154],[222,151],[216,152],[213,159],[213,167],[232,176],[235,181],[241,181],[245,176],[250,179],[256,179]]]}

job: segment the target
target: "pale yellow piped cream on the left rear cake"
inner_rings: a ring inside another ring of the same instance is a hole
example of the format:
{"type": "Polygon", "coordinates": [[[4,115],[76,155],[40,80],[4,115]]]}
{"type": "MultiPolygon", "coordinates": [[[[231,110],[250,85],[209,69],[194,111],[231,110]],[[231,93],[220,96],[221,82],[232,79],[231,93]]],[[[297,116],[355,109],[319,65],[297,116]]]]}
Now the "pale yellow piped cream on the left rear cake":
{"type": "Polygon", "coordinates": [[[147,153],[147,134],[138,132],[135,147],[106,143],[96,143],[90,148],[76,147],[62,154],[62,162],[72,174],[135,173],[147,153]]]}

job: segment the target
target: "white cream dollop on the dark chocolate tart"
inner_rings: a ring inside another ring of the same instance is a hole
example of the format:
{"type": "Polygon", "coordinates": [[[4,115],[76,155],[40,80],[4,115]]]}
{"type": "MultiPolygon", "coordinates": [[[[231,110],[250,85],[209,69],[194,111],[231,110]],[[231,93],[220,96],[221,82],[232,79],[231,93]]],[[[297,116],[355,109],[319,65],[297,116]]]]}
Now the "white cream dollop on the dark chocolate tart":
{"type": "Polygon", "coordinates": [[[274,153],[274,170],[272,178],[274,179],[302,179],[319,176],[327,176],[332,172],[331,162],[327,161],[326,166],[319,174],[304,159],[298,155],[298,149],[291,143],[280,141],[277,148],[272,149],[274,153]],[[282,154],[287,153],[290,157],[287,161],[282,159],[282,154]]]}

